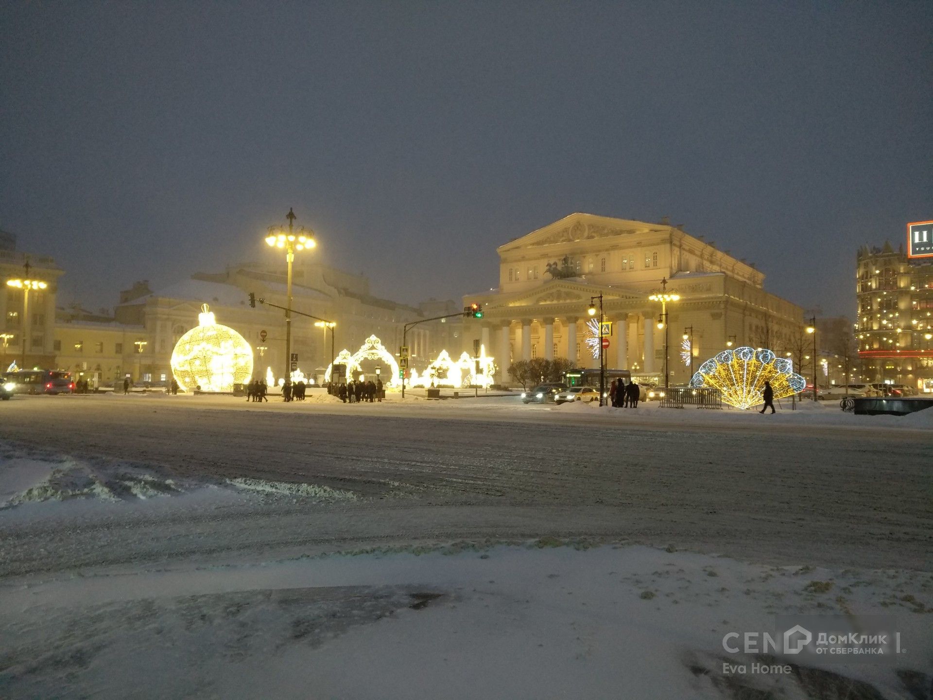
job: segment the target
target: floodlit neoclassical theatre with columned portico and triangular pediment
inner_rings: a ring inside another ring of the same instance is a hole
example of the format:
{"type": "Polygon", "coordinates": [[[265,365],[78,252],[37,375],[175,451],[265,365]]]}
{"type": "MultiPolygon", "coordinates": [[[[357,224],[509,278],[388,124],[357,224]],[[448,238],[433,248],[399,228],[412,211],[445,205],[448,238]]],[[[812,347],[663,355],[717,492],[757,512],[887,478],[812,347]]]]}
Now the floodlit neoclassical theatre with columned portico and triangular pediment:
{"type": "Polygon", "coordinates": [[[690,355],[695,371],[727,346],[786,355],[800,337],[802,309],[766,292],[764,273],[753,263],[666,222],[571,214],[497,252],[499,287],[464,297],[484,308],[480,326],[465,324],[472,336],[465,345],[480,340],[503,382],[518,359],[567,357],[578,367],[599,367],[587,343],[587,310],[600,294],[612,322],[606,366],[643,381],[663,381],[662,306],[650,300],[662,288],[679,295],[666,305],[671,384],[689,381],[690,355]]]}

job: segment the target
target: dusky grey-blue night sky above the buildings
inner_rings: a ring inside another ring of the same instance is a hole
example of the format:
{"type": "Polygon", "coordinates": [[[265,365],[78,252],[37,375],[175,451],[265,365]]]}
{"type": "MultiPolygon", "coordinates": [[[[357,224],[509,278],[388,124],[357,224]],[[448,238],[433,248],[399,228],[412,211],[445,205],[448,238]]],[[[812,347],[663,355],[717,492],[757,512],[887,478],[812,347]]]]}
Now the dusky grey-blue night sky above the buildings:
{"type": "Polygon", "coordinates": [[[583,211],[852,315],[857,247],[933,218],[930,2],[9,0],[0,31],[0,228],[60,303],[271,256],[293,206],[398,301],[583,211]]]}

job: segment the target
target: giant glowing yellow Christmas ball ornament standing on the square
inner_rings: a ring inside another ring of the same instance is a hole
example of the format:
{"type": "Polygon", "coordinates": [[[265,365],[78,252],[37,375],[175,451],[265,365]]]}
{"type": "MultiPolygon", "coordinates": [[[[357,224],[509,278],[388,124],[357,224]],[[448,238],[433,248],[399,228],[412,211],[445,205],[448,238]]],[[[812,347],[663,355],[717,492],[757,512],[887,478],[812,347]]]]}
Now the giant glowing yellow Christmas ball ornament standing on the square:
{"type": "Polygon", "coordinates": [[[221,326],[202,304],[198,328],[178,339],[172,352],[172,373],[190,391],[232,391],[253,374],[253,350],[234,329],[221,326]]]}

